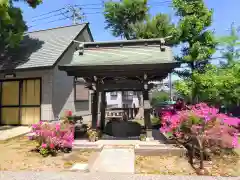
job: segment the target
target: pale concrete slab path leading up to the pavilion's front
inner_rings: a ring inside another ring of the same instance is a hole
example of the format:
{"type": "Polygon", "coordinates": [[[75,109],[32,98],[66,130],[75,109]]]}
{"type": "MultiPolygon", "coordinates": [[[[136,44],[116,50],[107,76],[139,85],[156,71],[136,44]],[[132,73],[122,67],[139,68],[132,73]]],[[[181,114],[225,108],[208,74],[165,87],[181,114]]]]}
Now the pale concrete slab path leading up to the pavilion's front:
{"type": "Polygon", "coordinates": [[[90,171],[134,174],[134,160],[134,149],[103,148],[90,171]]]}

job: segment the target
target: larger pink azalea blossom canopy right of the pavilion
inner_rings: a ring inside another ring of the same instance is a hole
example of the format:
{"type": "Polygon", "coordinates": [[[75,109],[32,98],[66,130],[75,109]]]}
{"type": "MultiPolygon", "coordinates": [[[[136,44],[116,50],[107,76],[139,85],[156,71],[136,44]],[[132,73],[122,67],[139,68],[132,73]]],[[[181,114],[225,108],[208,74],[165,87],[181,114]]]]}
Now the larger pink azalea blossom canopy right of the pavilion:
{"type": "Polygon", "coordinates": [[[192,135],[201,137],[205,147],[236,148],[240,119],[219,113],[218,109],[205,103],[192,106],[190,110],[175,114],[165,112],[162,116],[162,133],[172,133],[176,139],[186,140],[192,135]]]}

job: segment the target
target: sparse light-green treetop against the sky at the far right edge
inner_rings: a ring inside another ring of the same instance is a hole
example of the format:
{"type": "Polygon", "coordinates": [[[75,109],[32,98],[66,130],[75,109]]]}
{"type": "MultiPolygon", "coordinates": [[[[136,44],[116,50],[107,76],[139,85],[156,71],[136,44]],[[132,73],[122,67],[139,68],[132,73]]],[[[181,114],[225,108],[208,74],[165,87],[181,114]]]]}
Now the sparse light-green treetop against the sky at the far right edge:
{"type": "Polygon", "coordinates": [[[226,62],[221,61],[223,66],[228,66],[240,58],[240,37],[239,28],[231,24],[230,34],[217,38],[218,48],[226,62]]]}

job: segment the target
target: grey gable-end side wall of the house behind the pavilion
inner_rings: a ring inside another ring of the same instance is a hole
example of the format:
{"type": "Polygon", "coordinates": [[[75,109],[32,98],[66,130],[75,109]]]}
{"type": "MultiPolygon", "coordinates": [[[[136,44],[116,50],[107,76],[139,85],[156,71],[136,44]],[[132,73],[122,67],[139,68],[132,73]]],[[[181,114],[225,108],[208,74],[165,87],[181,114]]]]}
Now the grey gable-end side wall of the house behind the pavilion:
{"type": "MultiPolygon", "coordinates": [[[[91,41],[87,30],[85,30],[77,40],[82,42],[91,41]]],[[[73,113],[83,116],[89,116],[91,114],[90,101],[74,101],[74,77],[68,76],[66,72],[58,70],[58,65],[71,63],[76,46],[78,46],[78,44],[74,43],[69,48],[53,70],[53,114],[55,117],[62,116],[66,110],[71,110],[73,113]]],[[[91,99],[90,93],[89,99],[91,99]]]]}

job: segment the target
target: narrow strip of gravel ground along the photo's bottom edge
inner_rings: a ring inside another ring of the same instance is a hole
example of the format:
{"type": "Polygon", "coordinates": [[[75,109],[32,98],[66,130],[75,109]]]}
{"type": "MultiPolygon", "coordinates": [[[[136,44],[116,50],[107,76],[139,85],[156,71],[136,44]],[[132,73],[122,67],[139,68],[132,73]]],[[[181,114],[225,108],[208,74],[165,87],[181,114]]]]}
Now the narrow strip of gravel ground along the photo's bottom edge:
{"type": "Polygon", "coordinates": [[[239,180],[240,177],[155,176],[122,173],[10,172],[1,171],[0,180],[239,180]]]}

